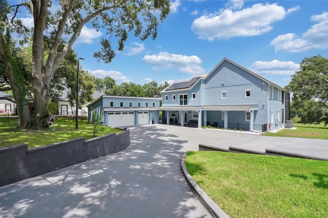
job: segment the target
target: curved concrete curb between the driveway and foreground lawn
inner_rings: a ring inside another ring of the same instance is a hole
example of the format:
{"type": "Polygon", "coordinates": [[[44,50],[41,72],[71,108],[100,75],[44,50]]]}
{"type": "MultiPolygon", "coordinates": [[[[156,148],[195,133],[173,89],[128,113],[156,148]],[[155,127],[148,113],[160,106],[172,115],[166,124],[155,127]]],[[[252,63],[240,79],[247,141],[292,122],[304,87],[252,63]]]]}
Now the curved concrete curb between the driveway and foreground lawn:
{"type": "Polygon", "coordinates": [[[213,217],[230,217],[227,213],[225,213],[217,204],[207,195],[195,182],[195,180],[190,176],[186,165],[185,165],[185,157],[189,151],[185,152],[185,154],[181,157],[181,171],[183,176],[185,177],[189,187],[195,193],[198,200],[204,205],[204,207],[211,213],[213,217]]]}

